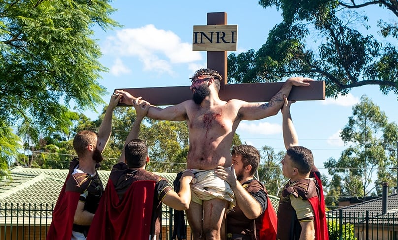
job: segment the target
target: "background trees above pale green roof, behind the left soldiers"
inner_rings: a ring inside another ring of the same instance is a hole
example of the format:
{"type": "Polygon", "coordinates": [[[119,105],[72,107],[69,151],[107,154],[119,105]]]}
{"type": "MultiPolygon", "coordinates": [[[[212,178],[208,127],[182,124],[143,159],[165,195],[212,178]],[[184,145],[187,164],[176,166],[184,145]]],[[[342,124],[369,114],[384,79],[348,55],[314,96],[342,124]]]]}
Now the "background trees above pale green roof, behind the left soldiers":
{"type": "MultiPolygon", "coordinates": [[[[29,135],[24,142],[24,154],[19,154],[15,165],[36,168],[67,169],[76,156],[73,138],[80,130],[98,132],[106,108],[96,120],[80,114],[68,131],[49,132],[44,137],[29,135]],[[37,137],[37,138],[33,138],[37,137]]],[[[135,122],[133,107],[118,107],[113,111],[111,138],[103,151],[101,170],[111,170],[119,160],[126,137],[135,122]]],[[[139,138],[146,141],[150,162],[147,169],[153,172],[180,172],[186,169],[189,150],[188,127],[185,122],[157,121],[145,118],[140,126],[139,138]]],[[[241,144],[235,134],[233,145],[241,144]]]]}

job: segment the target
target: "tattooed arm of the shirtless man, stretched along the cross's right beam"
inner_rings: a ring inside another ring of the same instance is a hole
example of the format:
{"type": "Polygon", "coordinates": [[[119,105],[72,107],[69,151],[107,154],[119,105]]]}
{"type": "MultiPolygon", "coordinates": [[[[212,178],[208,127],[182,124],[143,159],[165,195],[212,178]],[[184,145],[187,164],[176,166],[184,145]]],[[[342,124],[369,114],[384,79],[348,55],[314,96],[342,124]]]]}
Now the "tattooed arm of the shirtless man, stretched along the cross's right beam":
{"type": "Polygon", "coordinates": [[[239,116],[241,120],[259,120],[276,115],[282,108],[283,95],[289,96],[292,86],[309,86],[311,78],[291,77],[282,85],[282,88],[271,98],[268,103],[243,103],[239,116]]]}

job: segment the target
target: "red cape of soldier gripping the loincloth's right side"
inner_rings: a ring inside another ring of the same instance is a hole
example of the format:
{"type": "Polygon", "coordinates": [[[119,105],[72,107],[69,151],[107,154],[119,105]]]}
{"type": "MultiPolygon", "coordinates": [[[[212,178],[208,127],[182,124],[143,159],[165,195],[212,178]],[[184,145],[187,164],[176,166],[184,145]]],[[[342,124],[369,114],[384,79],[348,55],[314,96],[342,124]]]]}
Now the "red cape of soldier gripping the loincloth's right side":
{"type": "Polygon", "coordinates": [[[260,228],[260,240],[275,240],[278,219],[271,200],[267,197],[267,208],[263,215],[263,222],[260,228]]]}

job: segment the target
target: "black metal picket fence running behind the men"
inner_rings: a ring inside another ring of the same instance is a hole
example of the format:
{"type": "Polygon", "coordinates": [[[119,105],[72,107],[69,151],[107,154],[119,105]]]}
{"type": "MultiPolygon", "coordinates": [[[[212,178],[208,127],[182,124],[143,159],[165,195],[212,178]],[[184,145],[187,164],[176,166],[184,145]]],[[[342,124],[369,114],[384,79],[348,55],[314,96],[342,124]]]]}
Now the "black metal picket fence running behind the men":
{"type": "MultiPolygon", "coordinates": [[[[0,240],[45,240],[53,205],[1,204],[0,240]]],[[[398,240],[398,214],[333,210],[327,213],[330,240],[398,240]]],[[[160,240],[172,240],[173,210],[164,206],[160,240]]],[[[187,228],[187,240],[190,240],[187,228]]]]}

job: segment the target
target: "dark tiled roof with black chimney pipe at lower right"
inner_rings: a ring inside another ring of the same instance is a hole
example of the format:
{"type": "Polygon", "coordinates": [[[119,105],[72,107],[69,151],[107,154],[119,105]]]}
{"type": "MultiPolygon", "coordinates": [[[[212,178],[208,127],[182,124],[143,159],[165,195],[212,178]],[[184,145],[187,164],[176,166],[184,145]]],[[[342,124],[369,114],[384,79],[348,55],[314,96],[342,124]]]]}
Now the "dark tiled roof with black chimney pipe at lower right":
{"type": "MultiPolygon", "coordinates": [[[[382,197],[365,201],[363,203],[358,203],[343,208],[338,208],[329,211],[330,214],[338,214],[342,210],[343,213],[356,212],[358,214],[369,212],[369,214],[381,215],[382,214],[382,197]]],[[[387,213],[398,213],[398,194],[392,194],[387,197],[387,213]]]]}

